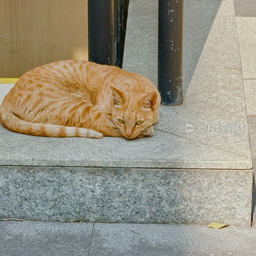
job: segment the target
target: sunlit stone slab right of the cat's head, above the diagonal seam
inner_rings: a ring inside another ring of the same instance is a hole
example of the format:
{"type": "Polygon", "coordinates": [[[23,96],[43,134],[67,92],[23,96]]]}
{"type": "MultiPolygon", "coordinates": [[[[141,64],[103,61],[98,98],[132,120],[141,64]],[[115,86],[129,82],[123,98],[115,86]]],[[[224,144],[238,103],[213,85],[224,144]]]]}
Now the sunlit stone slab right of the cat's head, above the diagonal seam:
{"type": "Polygon", "coordinates": [[[155,129],[243,155],[249,163],[251,150],[241,70],[196,69],[183,104],[171,109],[162,106],[155,129]],[[214,82],[204,86],[210,77],[214,82]],[[179,118],[171,119],[170,115],[179,118]],[[194,131],[186,133],[186,124],[193,125],[194,131]],[[236,127],[242,126],[238,132],[236,127]]]}

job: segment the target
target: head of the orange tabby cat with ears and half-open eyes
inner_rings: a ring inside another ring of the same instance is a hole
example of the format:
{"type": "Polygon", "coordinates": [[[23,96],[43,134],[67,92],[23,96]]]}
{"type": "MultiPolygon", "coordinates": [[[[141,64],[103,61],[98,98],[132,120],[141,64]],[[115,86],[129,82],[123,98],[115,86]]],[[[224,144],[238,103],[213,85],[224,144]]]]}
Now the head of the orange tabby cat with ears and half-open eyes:
{"type": "Polygon", "coordinates": [[[156,116],[157,93],[132,94],[110,87],[113,92],[113,122],[124,137],[134,139],[153,124],[156,116]]]}

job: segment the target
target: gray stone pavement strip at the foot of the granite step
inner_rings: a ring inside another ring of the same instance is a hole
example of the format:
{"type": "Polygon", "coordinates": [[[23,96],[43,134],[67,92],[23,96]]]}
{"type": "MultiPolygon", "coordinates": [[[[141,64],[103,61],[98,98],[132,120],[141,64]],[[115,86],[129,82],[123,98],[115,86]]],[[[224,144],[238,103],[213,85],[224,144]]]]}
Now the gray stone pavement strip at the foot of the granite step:
{"type": "Polygon", "coordinates": [[[0,221],[1,256],[254,256],[256,229],[0,221]]]}

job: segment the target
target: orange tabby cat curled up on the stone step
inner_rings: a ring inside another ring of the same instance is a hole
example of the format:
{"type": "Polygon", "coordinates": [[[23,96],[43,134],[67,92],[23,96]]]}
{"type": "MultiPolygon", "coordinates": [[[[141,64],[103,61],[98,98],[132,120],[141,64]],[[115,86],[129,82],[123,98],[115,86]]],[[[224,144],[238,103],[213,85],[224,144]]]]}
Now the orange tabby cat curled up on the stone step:
{"type": "Polygon", "coordinates": [[[63,60],[20,77],[0,107],[13,132],[46,137],[153,135],[160,94],[146,77],[114,66],[63,60]]]}

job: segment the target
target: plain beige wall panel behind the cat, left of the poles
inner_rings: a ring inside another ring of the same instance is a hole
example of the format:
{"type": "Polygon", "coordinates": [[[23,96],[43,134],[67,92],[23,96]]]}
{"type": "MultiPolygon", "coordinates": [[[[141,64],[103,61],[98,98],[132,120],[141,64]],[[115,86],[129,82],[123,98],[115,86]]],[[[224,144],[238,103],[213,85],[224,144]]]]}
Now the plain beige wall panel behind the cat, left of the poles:
{"type": "Polygon", "coordinates": [[[88,60],[87,0],[0,0],[0,77],[88,60]]]}

